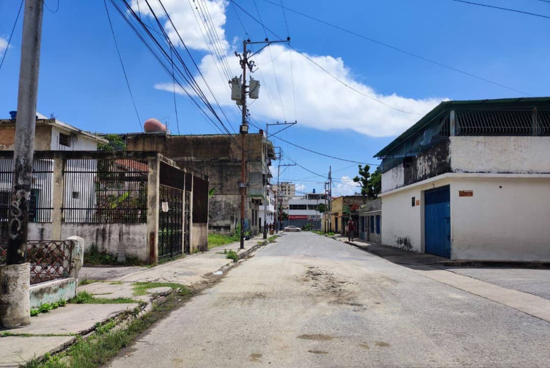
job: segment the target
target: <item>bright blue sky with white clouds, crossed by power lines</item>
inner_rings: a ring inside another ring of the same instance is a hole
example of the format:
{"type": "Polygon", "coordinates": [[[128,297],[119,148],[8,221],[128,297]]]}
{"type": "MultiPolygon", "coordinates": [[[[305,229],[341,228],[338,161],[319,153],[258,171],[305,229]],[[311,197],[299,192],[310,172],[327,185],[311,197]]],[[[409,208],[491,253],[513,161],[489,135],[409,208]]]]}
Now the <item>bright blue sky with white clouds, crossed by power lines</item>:
{"type": "MultiPolygon", "coordinates": [[[[204,41],[200,23],[197,24],[194,18],[193,12],[197,9],[193,9],[190,2],[195,7],[204,4],[209,9],[221,40],[219,47],[232,74],[238,73],[235,47],[239,51],[243,37],[246,37],[236,14],[239,14],[252,40],[263,40],[264,30],[226,1],[163,1],[208,85],[221,102],[233,127],[237,128],[239,116],[228,98],[227,78],[219,75],[216,63],[210,57],[208,42],[204,41]]],[[[287,36],[280,7],[265,0],[235,2],[256,18],[259,12],[269,29],[279,36],[287,36]]],[[[280,3],[280,0],[273,2],[280,3]]],[[[550,15],[550,3],[544,1],[479,2],[550,15]]],[[[57,0],[47,0],[46,3],[51,9],[57,6],[57,0]]],[[[112,4],[107,3],[141,122],[155,117],[169,122],[169,129],[177,133],[170,76],[161,69],[112,4]]],[[[150,0],[150,3],[152,6],[158,4],[156,0],[150,0]]],[[[550,95],[550,19],[451,0],[283,0],[283,4],[527,94],[550,95]]],[[[136,7],[135,1],[133,5],[136,7]]],[[[9,36],[18,7],[18,0],[0,1],[3,19],[0,24],[0,55],[6,52],[3,40],[9,36]]],[[[141,0],[142,17],[152,24],[144,8],[145,3],[141,0]]],[[[260,99],[250,106],[252,119],[261,126],[277,120],[298,120],[295,127],[285,130],[281,136],[312,150],[376,164],[377,160],[372,158],[374,153],[445,98],[526,96],[330,28],[290,10],[285,14],[293,47],[363,94],[413,112],[395,111],[347,89],[288,48],[266,48],[255,58],[260,72],[253,76],[260,79],[262,86],[260,99]],[[279,88],[275,83],[275,74],[279,88]]],[[[166,19],[161,19],[161,22],[165,23],[166,19]]],[[[8,117],[8,111],[17,106],[21,26],[22,16],[0,69],[2,117],[8,117]]],[[[180,52],[183,54],[181,47],[180,52]]],[[[201,85],[206,90],[205,85],[201,85]]],[[[56,13],[45,9],[38,90],[38,111],[46,115],[53,113],[81,129],[114,133],[140,130],[102,1],[59,0],[56,13]]],[[[177,106],[180,133],[216,133],[188,97],[178,94],[177,106]]],[[[356,166],[321,157],[281,141],[275,140],[275,144],[282,147],[287,157],[315,173],[324,175],[329,165],[332,166],[336,187],[333,194],[353,193],[354,188],[349,185],[348,178],[356,175],[356,166]]],[[[282,163],[292,162],[286,160],[282,163]]],[[[322,182],[326,179],[310,178],[312,176],[300,167],[289,167],[281,179],[295,181],[306,191],[321,191],[322,182]],[[303,178],[307,179],[295,180],[303,178]]]]}

